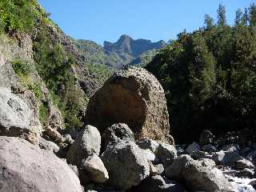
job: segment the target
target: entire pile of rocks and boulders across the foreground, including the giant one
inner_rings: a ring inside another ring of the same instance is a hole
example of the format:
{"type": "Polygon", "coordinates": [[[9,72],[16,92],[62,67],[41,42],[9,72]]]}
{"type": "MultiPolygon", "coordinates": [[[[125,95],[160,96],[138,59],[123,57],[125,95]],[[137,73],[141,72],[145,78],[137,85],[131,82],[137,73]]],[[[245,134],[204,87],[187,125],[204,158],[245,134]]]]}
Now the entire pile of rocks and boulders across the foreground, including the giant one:
{"type": "Polygon", "coordinates": [[[93,126],[61,136],[66,146],[18,138],[30,130],[26,111],[0,92],[1,192],[255,192],[256,145],[204,130],[199,143],[174,146],[162,87],[145,70],[110,78],[90,101],[93,126]]]}

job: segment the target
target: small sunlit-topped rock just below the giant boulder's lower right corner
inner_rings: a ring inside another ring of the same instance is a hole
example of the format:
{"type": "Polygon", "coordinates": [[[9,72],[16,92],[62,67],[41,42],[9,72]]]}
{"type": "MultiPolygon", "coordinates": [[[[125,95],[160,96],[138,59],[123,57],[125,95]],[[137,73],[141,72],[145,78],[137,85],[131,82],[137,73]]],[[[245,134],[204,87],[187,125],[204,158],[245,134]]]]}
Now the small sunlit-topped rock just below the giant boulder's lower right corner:
{"type": "Polygon", "coordinates": [[[158,146],[157,158],[164,167],[170,166],[170,164],[177,158],[177,151],[174,146],[168,145],[166,143],[160,143],[158,146]]]}

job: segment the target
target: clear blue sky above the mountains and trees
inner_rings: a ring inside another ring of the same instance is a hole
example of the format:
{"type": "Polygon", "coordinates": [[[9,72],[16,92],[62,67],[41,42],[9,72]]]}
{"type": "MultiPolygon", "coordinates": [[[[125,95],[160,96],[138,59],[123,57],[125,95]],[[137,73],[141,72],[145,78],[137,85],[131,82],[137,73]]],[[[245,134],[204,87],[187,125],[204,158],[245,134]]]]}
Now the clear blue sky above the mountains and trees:
{"type": "Polygon", "coordinates": [[[176,38],[182,30],[197,30],[205,14],[216,20],[218,4],[226,6],[227,20],[235,10],[256,0],[39,0],[50,18],[73,38],[100,44],[116,42],[122,34],[154,42],[176,38]]]}

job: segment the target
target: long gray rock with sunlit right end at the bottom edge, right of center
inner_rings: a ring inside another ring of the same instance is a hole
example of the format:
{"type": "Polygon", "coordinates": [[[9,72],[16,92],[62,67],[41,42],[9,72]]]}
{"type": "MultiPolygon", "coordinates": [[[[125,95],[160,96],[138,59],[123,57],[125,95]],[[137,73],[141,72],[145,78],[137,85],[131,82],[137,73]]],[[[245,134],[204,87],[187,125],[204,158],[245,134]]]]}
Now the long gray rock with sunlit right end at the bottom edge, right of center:
{"type": "Polygon", "coordinates": [[[189,155],[181,155],[167,167],[166,177],[184,182],[189,190],[197,191],[232,191],[221,170],[210,166],[202,166],[189,155]]]}

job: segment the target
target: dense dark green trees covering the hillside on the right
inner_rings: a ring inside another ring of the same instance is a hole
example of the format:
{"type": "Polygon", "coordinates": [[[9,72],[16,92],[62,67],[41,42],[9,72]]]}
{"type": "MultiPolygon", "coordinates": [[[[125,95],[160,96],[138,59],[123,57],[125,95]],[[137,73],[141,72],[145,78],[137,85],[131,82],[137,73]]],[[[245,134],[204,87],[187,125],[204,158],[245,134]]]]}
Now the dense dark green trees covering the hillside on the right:
{"type": "Polygon", "coordinates": [[[166,90],[178,142],[203,129],[221,134],[256,126],[256,6],[237,10],[228,26],[220,5],[217,23],[206,15],[205,24],[178,34],[146,66],[166,90]]]}

